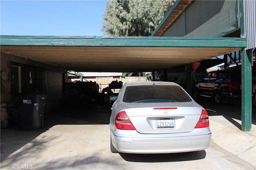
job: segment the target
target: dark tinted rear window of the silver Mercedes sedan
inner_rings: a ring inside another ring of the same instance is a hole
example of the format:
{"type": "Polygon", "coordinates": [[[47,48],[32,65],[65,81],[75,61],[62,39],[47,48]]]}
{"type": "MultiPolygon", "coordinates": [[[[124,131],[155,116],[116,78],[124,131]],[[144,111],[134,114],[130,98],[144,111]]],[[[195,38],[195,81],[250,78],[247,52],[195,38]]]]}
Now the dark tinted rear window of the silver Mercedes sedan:
{"type": "Polygon", "coordinates": [[[170,85],[127,86],[123,98],[123,102],[127,103],[191,101],[191,98],[180,86],[170,85]]]}

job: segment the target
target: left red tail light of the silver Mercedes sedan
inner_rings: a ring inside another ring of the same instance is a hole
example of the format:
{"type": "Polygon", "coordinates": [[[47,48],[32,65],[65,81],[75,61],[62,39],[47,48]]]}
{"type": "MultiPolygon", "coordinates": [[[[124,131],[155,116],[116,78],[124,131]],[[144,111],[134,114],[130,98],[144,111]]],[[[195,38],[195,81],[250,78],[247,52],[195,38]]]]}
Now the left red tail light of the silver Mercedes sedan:
{"type": "Polygon", "coordinates": [[[117,129],[136,130],[125,111],[117,113],[115,125],[117,129]]]}

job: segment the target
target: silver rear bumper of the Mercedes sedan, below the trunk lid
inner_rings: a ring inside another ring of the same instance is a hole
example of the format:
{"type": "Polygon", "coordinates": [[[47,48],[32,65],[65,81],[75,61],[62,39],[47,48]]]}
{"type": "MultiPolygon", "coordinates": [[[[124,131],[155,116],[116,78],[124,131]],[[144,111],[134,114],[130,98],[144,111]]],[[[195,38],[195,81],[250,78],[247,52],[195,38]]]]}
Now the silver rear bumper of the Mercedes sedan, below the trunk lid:
{"type": "Polygon", "coordinates": [[[212,133],[196,136],[174,137],[120,137],[111,133],[112,144],[123,153],[175,153],[207,149],[212,133]]]}

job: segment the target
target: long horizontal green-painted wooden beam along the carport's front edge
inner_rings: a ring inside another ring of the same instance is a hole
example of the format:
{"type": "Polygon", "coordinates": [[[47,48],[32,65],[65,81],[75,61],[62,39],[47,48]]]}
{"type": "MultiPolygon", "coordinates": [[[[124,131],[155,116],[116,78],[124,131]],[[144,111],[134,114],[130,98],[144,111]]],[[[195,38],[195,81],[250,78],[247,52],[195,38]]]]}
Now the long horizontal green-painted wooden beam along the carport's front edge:
{"type": "Polygon", "coordinates": [[[0,45],[87,47],[246,47],[246,38],[231,37],[58,37],[0,36],[0,45]]]}

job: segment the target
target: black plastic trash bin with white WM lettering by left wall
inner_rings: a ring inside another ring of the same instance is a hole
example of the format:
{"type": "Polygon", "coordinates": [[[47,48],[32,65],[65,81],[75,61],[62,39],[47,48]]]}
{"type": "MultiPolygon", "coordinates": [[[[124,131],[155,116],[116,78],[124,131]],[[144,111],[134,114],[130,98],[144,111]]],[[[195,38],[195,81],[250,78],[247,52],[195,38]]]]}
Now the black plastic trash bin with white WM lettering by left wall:
{"type": "Polygon", "coordinates": [[[19,121],[23,124],[22,130],[38,130],[44,127],[44,106],[46,94],[17,94],[19,121]]]}

